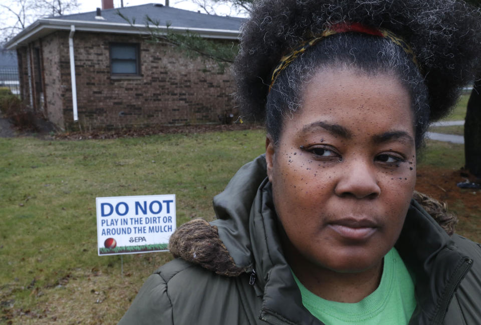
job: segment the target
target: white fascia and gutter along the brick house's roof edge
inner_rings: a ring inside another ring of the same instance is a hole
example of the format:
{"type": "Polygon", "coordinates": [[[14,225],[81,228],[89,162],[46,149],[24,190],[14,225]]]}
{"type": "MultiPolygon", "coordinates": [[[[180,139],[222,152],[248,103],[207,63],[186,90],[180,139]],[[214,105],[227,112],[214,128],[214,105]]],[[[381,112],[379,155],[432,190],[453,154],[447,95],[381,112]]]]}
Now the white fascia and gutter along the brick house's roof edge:
{"type": "MultiPolygon", "coordinates": [[[[73,21],[65,19],[39,19],[27,29],[20,32],[12,40],[6,43],[5,47],[8,50],[17,48],[21,44],[29,43],[35,40],[44,33],[49,31],[65,30],[70,31],[70,26],[75,25],[75,30],[78,32],[94,32],[94,33],[115,33],[115,34],[143,34],[148,35],[150,32],[145,25],[141,24],[122,24],[122,23],[108,23],[108,22],[90,22],[90,21],[73,21]]],[[[161,34],[166,33],[167,30],[175,33],[191,32],[196,33],[200,37],[209,39],[222,40],[238,40],[239,31],[234,30],[216,30],[206,28],[187,28],[187,27],[153,27],[161,34]]]]}

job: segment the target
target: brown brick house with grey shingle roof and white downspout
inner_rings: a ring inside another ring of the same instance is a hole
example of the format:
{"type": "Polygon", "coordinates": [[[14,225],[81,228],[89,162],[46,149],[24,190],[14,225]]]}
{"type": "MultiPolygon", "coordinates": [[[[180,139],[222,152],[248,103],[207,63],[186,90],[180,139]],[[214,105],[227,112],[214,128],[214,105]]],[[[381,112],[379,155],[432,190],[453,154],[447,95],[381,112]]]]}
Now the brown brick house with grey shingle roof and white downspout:
{"type": "Polygon", "coordinates": [[[233,112],[229,69],[149,42],[146,15],[161,32],[169,25],[234,48],[244,21],[160,4],[39,19],[6,44],[17,50],[22,98],[62,130],[218,123],[233,112]]]}

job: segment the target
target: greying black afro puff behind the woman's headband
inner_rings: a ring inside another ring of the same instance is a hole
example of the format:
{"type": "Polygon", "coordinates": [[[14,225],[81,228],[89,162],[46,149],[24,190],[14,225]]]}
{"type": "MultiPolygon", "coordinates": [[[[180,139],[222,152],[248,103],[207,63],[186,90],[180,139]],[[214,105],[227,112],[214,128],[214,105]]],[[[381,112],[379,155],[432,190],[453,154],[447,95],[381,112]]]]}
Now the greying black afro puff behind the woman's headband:
{"type": "Polygon", "coordinates": [[[232,67],[245,117],[264,120],[280,58],[330,25],[360,23],[405,40],[420,66],[430,121],[447,113],[478,73],[480,12],[454,0],[259,0],[242,27],[232,67]]]}

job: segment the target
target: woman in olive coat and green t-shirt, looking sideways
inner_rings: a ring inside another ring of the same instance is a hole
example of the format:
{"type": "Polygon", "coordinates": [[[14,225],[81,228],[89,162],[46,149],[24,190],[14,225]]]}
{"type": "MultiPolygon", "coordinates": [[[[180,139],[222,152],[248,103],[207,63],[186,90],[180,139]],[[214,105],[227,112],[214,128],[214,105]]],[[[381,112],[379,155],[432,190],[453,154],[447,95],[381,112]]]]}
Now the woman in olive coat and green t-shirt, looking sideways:
{"type": "Polygon", "coordinates": [[[266,154],[214,198],[218,220],[172,235],[179,258],[120,323],[479,323],[481,249],[414,192],[478,30],[451,0],[258,2],[234,72],[266,154]]]}

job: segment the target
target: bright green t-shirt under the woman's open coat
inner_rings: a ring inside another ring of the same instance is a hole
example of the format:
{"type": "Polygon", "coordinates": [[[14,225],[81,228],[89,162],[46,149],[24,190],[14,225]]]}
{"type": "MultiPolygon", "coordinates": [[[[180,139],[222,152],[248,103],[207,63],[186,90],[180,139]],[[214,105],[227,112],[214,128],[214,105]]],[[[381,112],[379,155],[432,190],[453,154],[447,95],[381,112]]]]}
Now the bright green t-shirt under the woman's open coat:
{"type": "Polygon", "coordinates": [[[394,247],[384,256],[378,288],[356,303],[323,299],[293,276],[304,306],[326,325],[402,325],[409,322],[416,307],[414,283],[394,247]]]}

